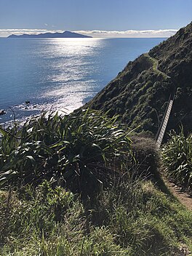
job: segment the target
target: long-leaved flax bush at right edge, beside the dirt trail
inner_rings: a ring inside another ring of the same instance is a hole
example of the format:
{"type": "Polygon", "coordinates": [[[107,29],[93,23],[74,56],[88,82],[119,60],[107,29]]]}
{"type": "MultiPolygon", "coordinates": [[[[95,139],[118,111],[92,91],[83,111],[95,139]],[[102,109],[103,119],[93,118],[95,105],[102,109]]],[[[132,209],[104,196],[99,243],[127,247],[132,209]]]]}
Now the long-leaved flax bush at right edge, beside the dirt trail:
{"type": "Polygon", "coordinates": [[[185,136],[172,132],[162,150],[165,172],[176,183],[192,191],[192,134],[185,136]]]}

